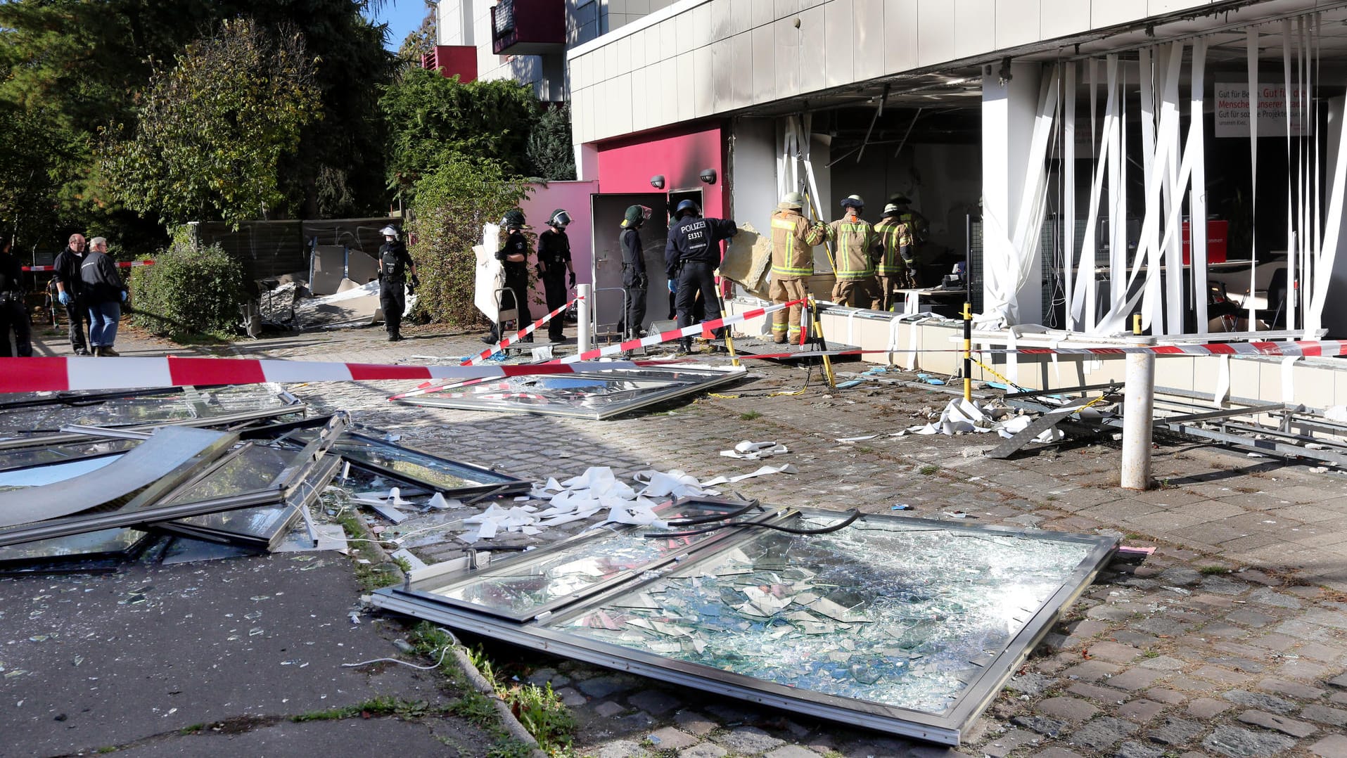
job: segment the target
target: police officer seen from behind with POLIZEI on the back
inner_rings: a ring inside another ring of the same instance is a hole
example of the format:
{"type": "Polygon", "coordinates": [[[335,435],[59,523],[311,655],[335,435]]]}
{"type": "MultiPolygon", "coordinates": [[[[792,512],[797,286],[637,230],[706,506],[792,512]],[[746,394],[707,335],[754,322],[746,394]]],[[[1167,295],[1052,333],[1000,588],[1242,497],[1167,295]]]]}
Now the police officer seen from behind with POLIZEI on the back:
{"type": "MultiPolygon", "coordinates": [[[[698,292],[709,320],[721,318],[721,298],[715,292],[715,277],[711,275],[721,265],[721,241],[740,233],[729,218],[703,218],[702,209],[694,201],[683,201],[674,210],[674,228],[669,229],[664,245],[664,272],[669,281],[678,281],[675,308],[678,326],[692,324],[692,307],[698,292]]],[[[717,330],[717,337],[719,337],[717,330]]],[[[692,349],[692,338],[680,339],[683,351],[692,349]]]]}

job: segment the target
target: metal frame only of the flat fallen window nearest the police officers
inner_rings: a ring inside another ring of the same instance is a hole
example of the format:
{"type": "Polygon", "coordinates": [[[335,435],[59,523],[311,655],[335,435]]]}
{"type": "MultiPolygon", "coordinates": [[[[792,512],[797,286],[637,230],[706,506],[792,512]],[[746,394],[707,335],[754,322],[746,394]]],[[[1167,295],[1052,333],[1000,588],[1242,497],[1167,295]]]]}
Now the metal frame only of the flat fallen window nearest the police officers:
{"type": "MultiPolygon", "coordinates": [[[[678,381],[676,377],[668,374],[686,374],[690,377],[700,377],[698,381],[686,381],[676,386],[667,386],[663,389],[652,389],[648,394],[641,397],[614,401],[612,404],[605,404],[602,408],[585,408],[575,404],[562,404],[550,403],[547,405],[512,405],[506,400],[473,400],[473,399],[454,399],[445,397],[440,393],[453,392],[459,388],[467,388],[484,384],[484,380],[467,380],[462,382],[450,384],[446,386],[436,388],[434,392],[426,394],[415,394],[409,397],[400,397],[395,403],[401,403],[405,405],[422,405],[430,408],[455,408],[459,411],[497,411],[508,413],[533,413],[540,416],[566,416],[571,419],[589,419],[594,421],[603,421],[621,416],[622,413],[630,413],[633,411],[640,411],[649,405],[656,405],[669,400],[676,400],[690,394],[696,394],[699,392],[706,392],[709,389],[721,386],[723,384],[731,382],[734,380],[742,378],[748,370],[742,366],[726,366],[726,368],[711,368],[711,366],[696,366],[696,368],[661,368],[661,366],[643,366],[638,369],[595,369],[591,372],[577,372],[574,374],[546,374],[541,378],[551,378],[554,376],[567,378],[567,380],[591,380],[591,381],[621,381],[621,374],[665,374],[664,381],[678,381]]],[[[517,377],[516,377],[517,378],[517,377]]],[[[535,377],[536,378],[536,377],[535,377]]],[[[643,378],[640,376],[633,376],[633,380],[643,378]]],[[[648,377],[655,380],[656,377],[648,377]]],[[[488,382],[497,382],[501,380],[492,378],[485,380],[488,382]]]]}

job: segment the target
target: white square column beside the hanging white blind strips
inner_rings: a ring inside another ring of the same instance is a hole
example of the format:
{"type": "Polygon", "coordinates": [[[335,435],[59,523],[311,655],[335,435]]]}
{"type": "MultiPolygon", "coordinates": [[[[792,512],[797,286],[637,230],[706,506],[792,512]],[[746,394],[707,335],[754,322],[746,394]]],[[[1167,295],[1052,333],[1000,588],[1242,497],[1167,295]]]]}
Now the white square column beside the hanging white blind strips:
{"type": "MultiPolygon", "coordinates": [[[[987,271],[1014,265],[1013,238],[1025,194],[1033,123],[1039,112],[1039,63],[1012,63],[982,70],[982,281],[987,271]]],[[[1029,277],[1016,292],[1016,323],[1043,323],[1043,257],[1033,256],[1029,277]]]]}

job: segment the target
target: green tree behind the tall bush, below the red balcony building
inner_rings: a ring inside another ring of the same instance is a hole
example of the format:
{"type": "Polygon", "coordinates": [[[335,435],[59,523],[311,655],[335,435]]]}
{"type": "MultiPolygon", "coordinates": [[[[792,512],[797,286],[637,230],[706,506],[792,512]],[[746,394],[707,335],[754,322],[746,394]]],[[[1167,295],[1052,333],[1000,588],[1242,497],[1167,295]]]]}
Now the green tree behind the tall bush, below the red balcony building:
{"type": "Polygon", "coordinates": [[[439,71],[404,69],[385,88],[388,186],[412,195],[418,182],[453,156],[485,159],[506,172],[528,168],[528,132],[537,113],[529,88],[515,81],[462,83],[439,71]]]}

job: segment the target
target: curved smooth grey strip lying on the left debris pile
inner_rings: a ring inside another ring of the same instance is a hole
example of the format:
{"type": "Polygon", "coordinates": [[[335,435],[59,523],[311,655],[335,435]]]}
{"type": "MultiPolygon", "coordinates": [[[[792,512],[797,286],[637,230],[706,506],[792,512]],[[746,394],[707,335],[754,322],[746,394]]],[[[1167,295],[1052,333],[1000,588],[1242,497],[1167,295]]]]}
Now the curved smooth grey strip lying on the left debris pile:
{"type": "Polygon", "coordinates": [[[186,475],[193,458],[209,454],[206,460],[210,460],[237,439],[210,429],[164,427],[97,471],[43,487],[0,493],[0,526],[70,516],[164,481],[175,471],[186,475]]]}

